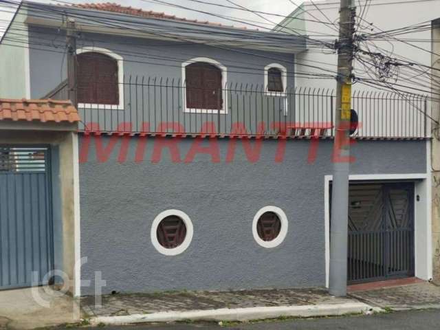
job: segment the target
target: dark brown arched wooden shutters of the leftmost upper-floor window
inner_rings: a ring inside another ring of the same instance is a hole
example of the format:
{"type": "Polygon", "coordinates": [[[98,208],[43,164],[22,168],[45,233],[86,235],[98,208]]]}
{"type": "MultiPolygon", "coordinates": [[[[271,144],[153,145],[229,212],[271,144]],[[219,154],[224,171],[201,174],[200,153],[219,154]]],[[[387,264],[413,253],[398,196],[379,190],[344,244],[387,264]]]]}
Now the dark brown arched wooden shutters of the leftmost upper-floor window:
{"type": "Polygon", "coordinates": [[[105,54],[77,56],[78,102],[119,104],[118,61],[105,54]]]}

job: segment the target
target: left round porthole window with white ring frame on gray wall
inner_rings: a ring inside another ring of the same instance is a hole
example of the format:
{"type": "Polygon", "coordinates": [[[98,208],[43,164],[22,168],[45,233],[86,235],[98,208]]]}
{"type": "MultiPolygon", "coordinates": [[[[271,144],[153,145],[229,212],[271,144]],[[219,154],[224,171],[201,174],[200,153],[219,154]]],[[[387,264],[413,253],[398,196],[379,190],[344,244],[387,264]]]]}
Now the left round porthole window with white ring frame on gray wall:
{"type": "Polygon", "coordinates": [[[166,210],[155,217],[151,225],[151,242],[166,256],[184,252],[192,240],[192,222],[180,210],[166,210]]]}

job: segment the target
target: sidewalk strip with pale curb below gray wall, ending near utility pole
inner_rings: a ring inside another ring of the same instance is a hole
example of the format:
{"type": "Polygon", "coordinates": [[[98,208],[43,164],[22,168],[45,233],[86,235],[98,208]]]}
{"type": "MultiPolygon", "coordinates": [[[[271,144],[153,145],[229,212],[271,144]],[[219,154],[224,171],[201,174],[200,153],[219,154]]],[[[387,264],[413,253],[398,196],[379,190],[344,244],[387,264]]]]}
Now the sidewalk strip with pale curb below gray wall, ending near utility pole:
{"type": "Polygon", "coordinates": [[[371,312],[354,298],[335,298],[326,289],[265,289],[229,292],[168,292],[81,299],[92,325],[143,322],[246,321],[280,317],[340,316],[371,312]]]}

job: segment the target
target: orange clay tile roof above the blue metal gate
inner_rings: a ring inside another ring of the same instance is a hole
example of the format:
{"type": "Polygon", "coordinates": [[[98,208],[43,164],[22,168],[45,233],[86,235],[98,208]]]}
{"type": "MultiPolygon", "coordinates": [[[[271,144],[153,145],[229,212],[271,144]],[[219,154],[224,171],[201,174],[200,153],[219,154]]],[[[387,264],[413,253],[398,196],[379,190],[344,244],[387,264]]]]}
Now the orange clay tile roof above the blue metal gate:
{"type": "Polygon", "coordinates": [[[74,123],[80,116],[70,101],[0,98],[0,120],[74,123]]]}

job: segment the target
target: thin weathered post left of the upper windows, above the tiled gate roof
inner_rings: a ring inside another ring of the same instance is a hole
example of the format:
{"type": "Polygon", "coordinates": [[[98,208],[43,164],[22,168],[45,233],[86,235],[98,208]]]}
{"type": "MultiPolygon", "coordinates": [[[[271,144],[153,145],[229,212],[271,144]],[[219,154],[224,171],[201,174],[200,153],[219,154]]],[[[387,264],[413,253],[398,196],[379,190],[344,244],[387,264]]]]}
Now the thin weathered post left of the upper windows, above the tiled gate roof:
{"type": "Polygon", "coordinates": [[[74,107],[78,107],[76,89],[76,26],[75,20],[69,18],[67,18],[66,47],[68,98],[74,104],[74,107]]]}

